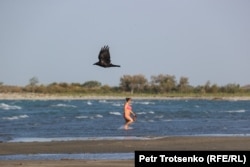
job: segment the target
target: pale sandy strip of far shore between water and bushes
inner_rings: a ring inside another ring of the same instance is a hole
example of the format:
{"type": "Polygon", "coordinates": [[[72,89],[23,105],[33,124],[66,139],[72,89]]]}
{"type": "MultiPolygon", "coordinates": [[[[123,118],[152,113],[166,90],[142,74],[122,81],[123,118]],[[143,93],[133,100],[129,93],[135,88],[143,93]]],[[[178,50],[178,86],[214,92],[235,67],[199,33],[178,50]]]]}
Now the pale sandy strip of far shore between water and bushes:
{"type": "MultiPolygon", "coordinates": [[[[133,99],[147,100],[250,100],[250,96],[132,96],[133,99]]],[[[39,94],[39,93],[0,93],[0,100],[122,100],[125,96],[112,95],[59,95],[59,94],[39,94]]]]}

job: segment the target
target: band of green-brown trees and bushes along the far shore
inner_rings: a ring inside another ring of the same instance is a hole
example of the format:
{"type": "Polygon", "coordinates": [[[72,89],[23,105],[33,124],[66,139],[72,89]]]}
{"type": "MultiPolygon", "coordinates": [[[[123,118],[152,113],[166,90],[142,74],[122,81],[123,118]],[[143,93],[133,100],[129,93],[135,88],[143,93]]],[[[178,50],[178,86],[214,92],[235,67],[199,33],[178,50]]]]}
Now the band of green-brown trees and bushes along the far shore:
{"type": "Polygon", "coordinates": [[[51,83],[39,84],[37,77],[32,77],[26,86],[4,85],[0,82],[0,93],[80,93],[80,94],[245,94],[250,93],[250,85],[240,86],[229,83],[224,86],[211,84],[192,86],[187,77],[180,77],[177,81],[174,75],[160,74],[151,76],[148,80],[144,75],[123,75],[119,86],[102,85],[99,81],[84,83],[51,83]]]}

